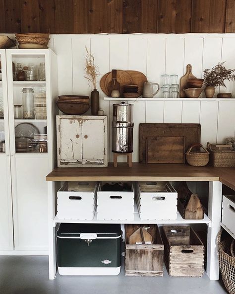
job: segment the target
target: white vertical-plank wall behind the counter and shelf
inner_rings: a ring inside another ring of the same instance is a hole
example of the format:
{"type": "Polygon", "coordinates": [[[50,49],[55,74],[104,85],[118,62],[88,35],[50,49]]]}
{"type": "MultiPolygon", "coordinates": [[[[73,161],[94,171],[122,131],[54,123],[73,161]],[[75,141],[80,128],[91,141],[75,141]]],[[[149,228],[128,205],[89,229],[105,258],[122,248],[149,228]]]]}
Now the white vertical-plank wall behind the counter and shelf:
{"type": "MultiPolygon", "coordinates": [[[[205,68],[212,68],[221,61],[226,61],[226,67],[235,69],[235,34],[51,35],[49,46],[58,55],[60,95],[90,94],[91,87],[84,78],[85,46],[95,57],[100,72],[98,80],[112,69],[140,71],[153,82],[160,82],[161,74],[181,77],[188,63],[197,77],[202,77],[205,68]]],[[[235,82],[226,85],[227,89],[217,89],[216,93],[232,92],[235,97],[235,82]]],[[[111,118],[109,133],[112,133],[112,105],[117,101],[104,101],[105,94],[99,83],[97,89],[101,108],[111,118]]],[[[158,93],[156,97],[160,98],[160,95],[158,93]]],[[[131,103],[134,104],[133,161],[138,161],[139,123],[200,123],[203,145],[207,141],[221,143],[235,134],[234,100],[179,99],[131,103]]],[[[112,152],[109,156],[112,161],[112,152]]]]}

